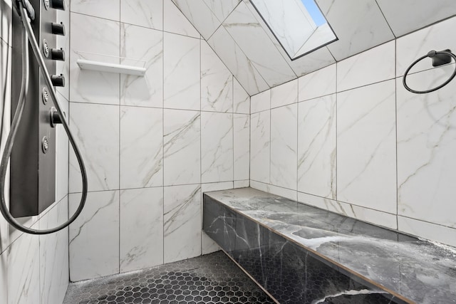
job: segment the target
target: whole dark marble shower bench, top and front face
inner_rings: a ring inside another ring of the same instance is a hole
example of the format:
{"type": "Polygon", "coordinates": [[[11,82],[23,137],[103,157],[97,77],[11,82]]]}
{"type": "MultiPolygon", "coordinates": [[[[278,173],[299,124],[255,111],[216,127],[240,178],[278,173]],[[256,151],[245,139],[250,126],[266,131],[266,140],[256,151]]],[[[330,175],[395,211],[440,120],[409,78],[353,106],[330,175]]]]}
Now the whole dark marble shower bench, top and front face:
{"type": "Polygon", "coordinates": [[[252,188],[204,193],[203,229],[278,303],[456,303],[456,251],[252,188]]]}

